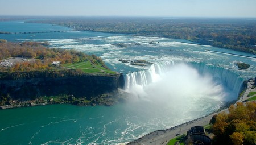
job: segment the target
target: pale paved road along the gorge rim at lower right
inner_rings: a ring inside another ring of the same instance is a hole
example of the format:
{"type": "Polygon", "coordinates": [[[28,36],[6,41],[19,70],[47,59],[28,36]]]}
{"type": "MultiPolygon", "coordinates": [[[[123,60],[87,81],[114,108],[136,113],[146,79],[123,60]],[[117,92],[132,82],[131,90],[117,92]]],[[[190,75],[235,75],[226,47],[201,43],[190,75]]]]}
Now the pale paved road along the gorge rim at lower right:
{"type": "MultiPolygon", "coordinates": [[[[251,92],[251,91],[256,92],[256,88],[251,89],[253,83],[254,82],[248,82],[247,89],[246,89],[245,93],[240,98],[240,100],[238,100],[237,102],[242,102],[244,100],[247,100],[249,98],[249,97],[247,97],[249,92],[251,92]]],[[[224,109],[221,111],[228,111],[228,109],[224,109]]],[[[218,112],[218,113],[220,113],[220,112],[218,112]]],[[[202,118],[196,119],[196,120],[188,122],[188,123],[184,123],[184,124],[176,126],[176,127],[172,127],[171,129],[158,130],[158,131],[151,132],[150,134],[143,136],[142,138],[139,138],[139,139],[135,140],[134,142],[131,142],[128,144],[129,145],[130,144],[131,145],[156,145],[156,144],[166,145],[169,140],[176,137],[176,134],[187,134],[187,131],[189,129],[191,129],[191,127],[193,127],[193,126],[208,125],[210,119],[212,119],[212,116],[215,114],[217,114],[217,113],[210,114],[206,117],[202,117],[202,118]]]]}

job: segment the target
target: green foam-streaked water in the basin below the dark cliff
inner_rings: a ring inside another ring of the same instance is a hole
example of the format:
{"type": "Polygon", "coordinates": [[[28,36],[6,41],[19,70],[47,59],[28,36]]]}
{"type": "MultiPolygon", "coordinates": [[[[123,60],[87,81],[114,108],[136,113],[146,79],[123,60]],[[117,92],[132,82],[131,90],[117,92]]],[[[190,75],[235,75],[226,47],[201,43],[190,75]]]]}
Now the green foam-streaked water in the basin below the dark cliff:
{"type": "Polygon", "coordinates": [[[0,144],[117,144],[165,127],[160,121],[164,114],[139,104],[0,110],[0,144]]]}

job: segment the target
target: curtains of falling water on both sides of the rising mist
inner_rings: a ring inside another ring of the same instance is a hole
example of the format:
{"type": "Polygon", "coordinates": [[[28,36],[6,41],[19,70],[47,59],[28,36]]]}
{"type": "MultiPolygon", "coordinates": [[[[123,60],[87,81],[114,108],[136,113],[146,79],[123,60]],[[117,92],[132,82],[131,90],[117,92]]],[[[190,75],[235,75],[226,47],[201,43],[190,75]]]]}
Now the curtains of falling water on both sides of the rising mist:
{"type": "MultiPolygon", "coordinates": [[[[136,85],[144,87],[152,82],[156,82],[161,74],[169,71],[170,68],[174,67],[177,63],[180,62],[167,61],[155,63],[147,70],[128,73],[125,75],[125,89],[129,90],[136,85]]],[[[226,88],[235,93],[236,96],[240,93],[243,79],[238,74],[228,69],[214,67],[213,65],[205,63],[191,62],[185,64],[195,68],[201,75],[209,74],[216,83],[226,86],[226,88]]]]}

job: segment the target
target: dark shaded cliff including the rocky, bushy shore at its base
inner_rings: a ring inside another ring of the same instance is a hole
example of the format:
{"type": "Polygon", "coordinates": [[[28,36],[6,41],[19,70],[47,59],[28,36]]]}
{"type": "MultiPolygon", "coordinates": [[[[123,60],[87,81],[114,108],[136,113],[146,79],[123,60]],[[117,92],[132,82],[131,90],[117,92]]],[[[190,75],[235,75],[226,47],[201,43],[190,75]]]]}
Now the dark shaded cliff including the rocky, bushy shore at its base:
{"type": "Polygon", "coordinates": [[[1,78],[0,109],[60,103],[112,106],[126,100],[119,93],[123,88],[122,74],[40,77],[23,73],[24,78],[1,78]]]}

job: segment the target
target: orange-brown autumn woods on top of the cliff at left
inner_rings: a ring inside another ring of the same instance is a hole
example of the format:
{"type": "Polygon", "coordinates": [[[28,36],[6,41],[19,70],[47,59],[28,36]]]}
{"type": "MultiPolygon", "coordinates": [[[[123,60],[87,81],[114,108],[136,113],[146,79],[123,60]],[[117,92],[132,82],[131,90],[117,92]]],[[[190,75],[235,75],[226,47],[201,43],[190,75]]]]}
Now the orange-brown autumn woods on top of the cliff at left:
{"type": "MultiPolygon", "coordinates": [[[[0,39],[0,60],[11,57],[24,58],[23,61],[17,61],[12,66],[0,67],[0,71],[35,71],[51,70],[56,67],[51,63],[60,61],[61,63],[79,63],[82,61],[91,61],[93,64],[101,65],[107,68],[100,57],[95,55],[86,55],[74,50],[60,48],[47,48],[48,42],[22,42],[13,43],[0,39]],[[26,58],[26,59],[25,59],[26,58]],[[30,61],[24,61],[30,60],[30,61]]],[[[60,67],[59,67],[60,68],[60,67]]]]}

